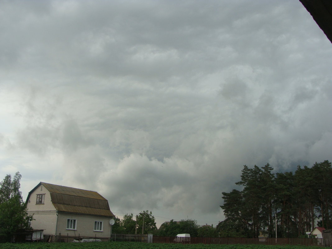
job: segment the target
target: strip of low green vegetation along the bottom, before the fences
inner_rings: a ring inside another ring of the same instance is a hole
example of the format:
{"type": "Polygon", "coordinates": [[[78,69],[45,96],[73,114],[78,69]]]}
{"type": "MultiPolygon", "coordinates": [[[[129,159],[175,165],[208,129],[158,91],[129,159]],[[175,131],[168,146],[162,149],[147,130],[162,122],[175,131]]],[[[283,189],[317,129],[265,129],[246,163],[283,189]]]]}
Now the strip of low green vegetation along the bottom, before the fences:
{"type": "Polygon", "coordinates": [[[0,249],[322,249],[315,246],[161,244],[139,242],[5,243],[0,249]]]}

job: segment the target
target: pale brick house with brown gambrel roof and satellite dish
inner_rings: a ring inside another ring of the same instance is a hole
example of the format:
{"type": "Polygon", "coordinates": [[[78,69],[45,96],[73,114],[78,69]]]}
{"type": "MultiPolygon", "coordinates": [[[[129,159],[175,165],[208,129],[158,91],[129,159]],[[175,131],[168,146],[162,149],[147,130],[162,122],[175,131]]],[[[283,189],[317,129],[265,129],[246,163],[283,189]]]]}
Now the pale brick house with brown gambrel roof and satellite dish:
{"type": "Polygon", "coordinates": [[[28,214],[34,218],[32,228],[43,229],[44,236],[51,236],[52,241],[61,241],[61,236],[111,236],[110,219],[114,214],[108,201],[95,191],[40,182],[29,192],[26,202],[28,214]]]}

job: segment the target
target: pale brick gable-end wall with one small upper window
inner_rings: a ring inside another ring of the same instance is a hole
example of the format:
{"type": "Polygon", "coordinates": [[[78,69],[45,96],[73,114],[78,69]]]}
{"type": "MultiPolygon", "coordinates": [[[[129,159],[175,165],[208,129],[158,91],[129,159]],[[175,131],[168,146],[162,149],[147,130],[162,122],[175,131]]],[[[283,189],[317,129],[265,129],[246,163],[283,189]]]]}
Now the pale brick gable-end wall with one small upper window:
{"type": "Polygon", "coordinates": [[[30,194],[27,209],[28,214],[34,217],[34,220],[31,221],[32,228],[43,229],[44,235],[55,234],[57,211],[51,202],[49,191],[43,185],[30,194]],[[37,195],[41,194],[45,194],[44,204],[36,204],[37,195]]]}

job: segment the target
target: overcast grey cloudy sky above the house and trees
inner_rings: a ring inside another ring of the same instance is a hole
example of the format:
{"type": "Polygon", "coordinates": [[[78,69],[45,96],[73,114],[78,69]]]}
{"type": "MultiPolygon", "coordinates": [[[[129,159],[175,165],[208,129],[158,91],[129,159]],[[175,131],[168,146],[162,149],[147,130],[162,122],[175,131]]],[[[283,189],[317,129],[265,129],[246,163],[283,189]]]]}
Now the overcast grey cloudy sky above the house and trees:
{"type": "Polygon", "coordinates": [[[0,179],[218,224],[243,165],[332,161],[332,44],[297,1],[0,2],[0,179]]]}

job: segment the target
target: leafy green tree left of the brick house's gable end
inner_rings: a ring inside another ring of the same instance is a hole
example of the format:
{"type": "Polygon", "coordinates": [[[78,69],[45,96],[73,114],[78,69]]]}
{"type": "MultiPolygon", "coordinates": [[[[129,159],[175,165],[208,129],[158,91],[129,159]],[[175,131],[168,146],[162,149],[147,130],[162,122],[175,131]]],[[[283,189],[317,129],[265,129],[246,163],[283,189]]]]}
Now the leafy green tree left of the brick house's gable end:
{"type": "Polygon", "coordinates": [[[16,172],[13,180],[11,175],[6,175],[0,182],[0,242],[10,241],[13,232],[31,228],[32,216],[28,215],[19,191],[21,177],[16,172]]]}

